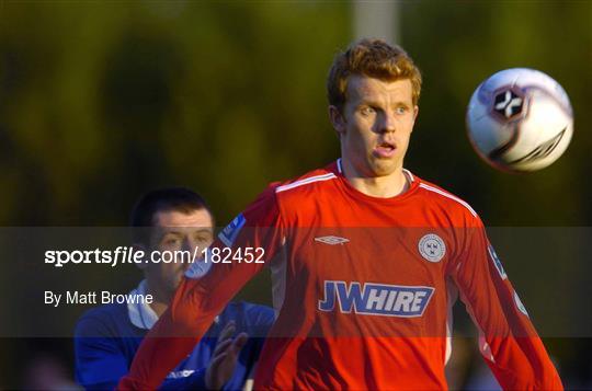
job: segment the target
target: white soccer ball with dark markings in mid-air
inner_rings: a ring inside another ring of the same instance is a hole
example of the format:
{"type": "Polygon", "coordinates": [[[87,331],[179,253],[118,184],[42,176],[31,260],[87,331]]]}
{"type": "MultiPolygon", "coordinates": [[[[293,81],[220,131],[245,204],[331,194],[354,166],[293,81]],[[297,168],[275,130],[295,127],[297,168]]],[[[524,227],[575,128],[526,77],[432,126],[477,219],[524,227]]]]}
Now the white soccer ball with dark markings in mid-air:
{"type": "Polygon", "coordinates": [[[573,134],[573,113],[561,85],[534,69],[499,71],[473,93],[468,137],[492,166],[536,171],[565,152],[573,134]]]}

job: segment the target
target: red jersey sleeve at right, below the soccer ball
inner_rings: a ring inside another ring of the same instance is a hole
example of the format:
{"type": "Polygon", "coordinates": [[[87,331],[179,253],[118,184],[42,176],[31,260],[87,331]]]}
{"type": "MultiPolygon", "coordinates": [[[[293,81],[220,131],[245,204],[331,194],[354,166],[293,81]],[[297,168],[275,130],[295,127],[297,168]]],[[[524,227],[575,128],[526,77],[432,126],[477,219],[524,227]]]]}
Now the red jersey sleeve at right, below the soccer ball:
{"type": "Polygon", "coordinates": [[[479,348],[504,390],[562,390],[526,309],[477,218],[452,272],[479,329],[479,348]]]}

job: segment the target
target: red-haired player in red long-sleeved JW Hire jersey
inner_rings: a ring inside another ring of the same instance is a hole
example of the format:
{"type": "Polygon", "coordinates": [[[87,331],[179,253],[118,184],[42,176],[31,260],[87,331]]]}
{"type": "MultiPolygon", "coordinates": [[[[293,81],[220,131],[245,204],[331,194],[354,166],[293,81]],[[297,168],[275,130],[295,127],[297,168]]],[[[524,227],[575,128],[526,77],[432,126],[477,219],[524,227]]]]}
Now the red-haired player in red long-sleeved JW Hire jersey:
{"type": "Polygon", "coordinates": [[[328,77],[341,158],[272,185],[185,274],[121,389],[150,389],[264,265],[219,263],[262,249],[278,313],[255,372],[261,389],[445,389],[459,295],[504,389],[561,382],[470,206],[403,169],[421,76],[383,41],[339,54],[328,77]]]}

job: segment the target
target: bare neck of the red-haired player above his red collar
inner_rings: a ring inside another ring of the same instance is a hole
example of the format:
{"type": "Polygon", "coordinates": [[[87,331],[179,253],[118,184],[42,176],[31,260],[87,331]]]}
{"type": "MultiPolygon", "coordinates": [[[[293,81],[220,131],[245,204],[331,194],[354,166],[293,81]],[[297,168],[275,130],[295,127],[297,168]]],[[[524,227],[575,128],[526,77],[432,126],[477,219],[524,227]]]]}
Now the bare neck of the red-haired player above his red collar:
{"type": "Polygon", "coordinates": [[[364,176],[351,164],[343,164],[343,175],[356,191],[378,198],[396,197],[409,188],[402,168],[385,176],[364,176]]]}

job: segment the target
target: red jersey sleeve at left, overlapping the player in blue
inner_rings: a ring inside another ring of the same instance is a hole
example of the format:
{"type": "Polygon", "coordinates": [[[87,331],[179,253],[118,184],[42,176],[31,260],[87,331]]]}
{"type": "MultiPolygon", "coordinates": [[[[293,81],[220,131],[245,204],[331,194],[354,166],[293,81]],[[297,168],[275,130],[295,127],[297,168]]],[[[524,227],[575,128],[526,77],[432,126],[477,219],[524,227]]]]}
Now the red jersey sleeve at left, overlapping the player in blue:
{"type": "Polygon", "coordinates": [[[275,187],[270,186],[220,232],[204,258],[190,266],[118,388],[157,388],[198,343],[226,303],[273,258],[283,240],[275,187]]]}

